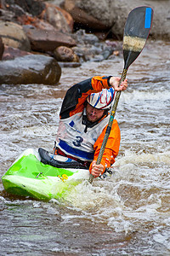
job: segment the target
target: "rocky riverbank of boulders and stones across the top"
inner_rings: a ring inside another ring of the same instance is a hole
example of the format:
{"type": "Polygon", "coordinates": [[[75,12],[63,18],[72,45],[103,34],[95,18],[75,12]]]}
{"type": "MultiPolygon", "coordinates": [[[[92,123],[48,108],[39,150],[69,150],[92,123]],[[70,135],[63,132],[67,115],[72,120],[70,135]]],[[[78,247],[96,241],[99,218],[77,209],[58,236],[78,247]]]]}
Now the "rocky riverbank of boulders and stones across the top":
{"type": "MultiPolygon", "coordinates": [[[[159,2],[148,4],[157,10],[159,2]]],[[[0,5],[0,84],[58,84],[62,67],[80,67],[84,61],[118,60],[127,15],[138,4],[132,1],[125,9],[123,1],[117,6],[99,1],[98,7],[94,4],[90,9],[89,3],[4,0],[0,5]],[[102,14],[100,19],[97,14],[102,14]],[[44,55],[42,68],[36,67],[40,55],[44,55]],[[20,62],[26,65],[20,67],[20,62]]],[[[154,15],[150,39],[168,36],[169,18],[167,10],[162,9],[167,3],[161,1],[159,15],[157,11],[154,15]],[[167,19],[161,35],[156,25],[160,15],[167,19]]]]}

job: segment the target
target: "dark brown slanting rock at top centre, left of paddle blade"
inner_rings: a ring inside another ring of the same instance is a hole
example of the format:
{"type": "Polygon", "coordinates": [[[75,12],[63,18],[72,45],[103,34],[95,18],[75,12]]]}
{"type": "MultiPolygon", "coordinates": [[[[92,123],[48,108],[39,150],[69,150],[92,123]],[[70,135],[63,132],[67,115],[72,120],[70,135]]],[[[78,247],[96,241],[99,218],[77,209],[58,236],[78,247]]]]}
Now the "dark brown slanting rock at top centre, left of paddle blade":
{"type": "MultiPolygon", "coordinates": [[[[83,26],[94,30],[108,29],[108,25],[101,22],[100,17],[99,19],[96,19],[93,15],[88,14],[84,9],[81,9],[78,6],[77,2],[78,1],[75,0],[65,0],[64,9],[71,14],[78,28],[83,26]]],[[[87,3],[88,2],[86,1],[86,4],[87,3]]],[[[98,3],[98,1],[96,1],[96,3],[98,3]]],[[[94,5],[94,2],[91,4],[94,5]]]]}

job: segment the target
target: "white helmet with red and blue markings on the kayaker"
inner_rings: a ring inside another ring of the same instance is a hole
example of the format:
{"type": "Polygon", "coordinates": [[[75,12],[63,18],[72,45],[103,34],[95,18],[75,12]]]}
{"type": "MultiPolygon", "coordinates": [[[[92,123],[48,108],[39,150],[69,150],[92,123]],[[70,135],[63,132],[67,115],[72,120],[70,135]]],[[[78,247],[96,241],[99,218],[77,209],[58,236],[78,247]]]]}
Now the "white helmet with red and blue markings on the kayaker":
{"type": "Polygon", "coordinates": [[[87,102],[94,108],[98,109],[108,109],[111,108],[111,103],[114,99],[114,90],[111,87],[110,89],[103,89],[97,93],[91,93],[87,97],[87,102]]]}

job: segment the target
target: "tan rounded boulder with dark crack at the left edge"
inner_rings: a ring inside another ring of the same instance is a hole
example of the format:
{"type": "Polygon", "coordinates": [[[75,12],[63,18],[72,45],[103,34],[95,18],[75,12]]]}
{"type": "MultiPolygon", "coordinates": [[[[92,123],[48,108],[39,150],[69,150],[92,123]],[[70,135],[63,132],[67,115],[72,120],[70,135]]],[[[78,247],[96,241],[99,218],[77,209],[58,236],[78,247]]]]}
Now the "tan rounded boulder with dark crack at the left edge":
{"type": "Polygon", "coordinates": [[[22,26],[8,21],[0,20],[0,36],[3,44],[8,46],[29,51],[31,45],[22,26]]]}

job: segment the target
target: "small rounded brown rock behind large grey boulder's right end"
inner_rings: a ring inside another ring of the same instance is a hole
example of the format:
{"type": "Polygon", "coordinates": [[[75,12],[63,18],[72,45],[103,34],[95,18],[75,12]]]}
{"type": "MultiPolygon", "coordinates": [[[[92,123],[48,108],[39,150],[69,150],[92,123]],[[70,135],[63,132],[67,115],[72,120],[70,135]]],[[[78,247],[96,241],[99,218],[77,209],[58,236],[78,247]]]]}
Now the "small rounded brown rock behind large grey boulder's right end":
{"type": "Polygon", "coordinates": [[[54,50],[54,57],[57,61],[79,62],[74,50],[65,46],[59,46],[54,50]]]}

